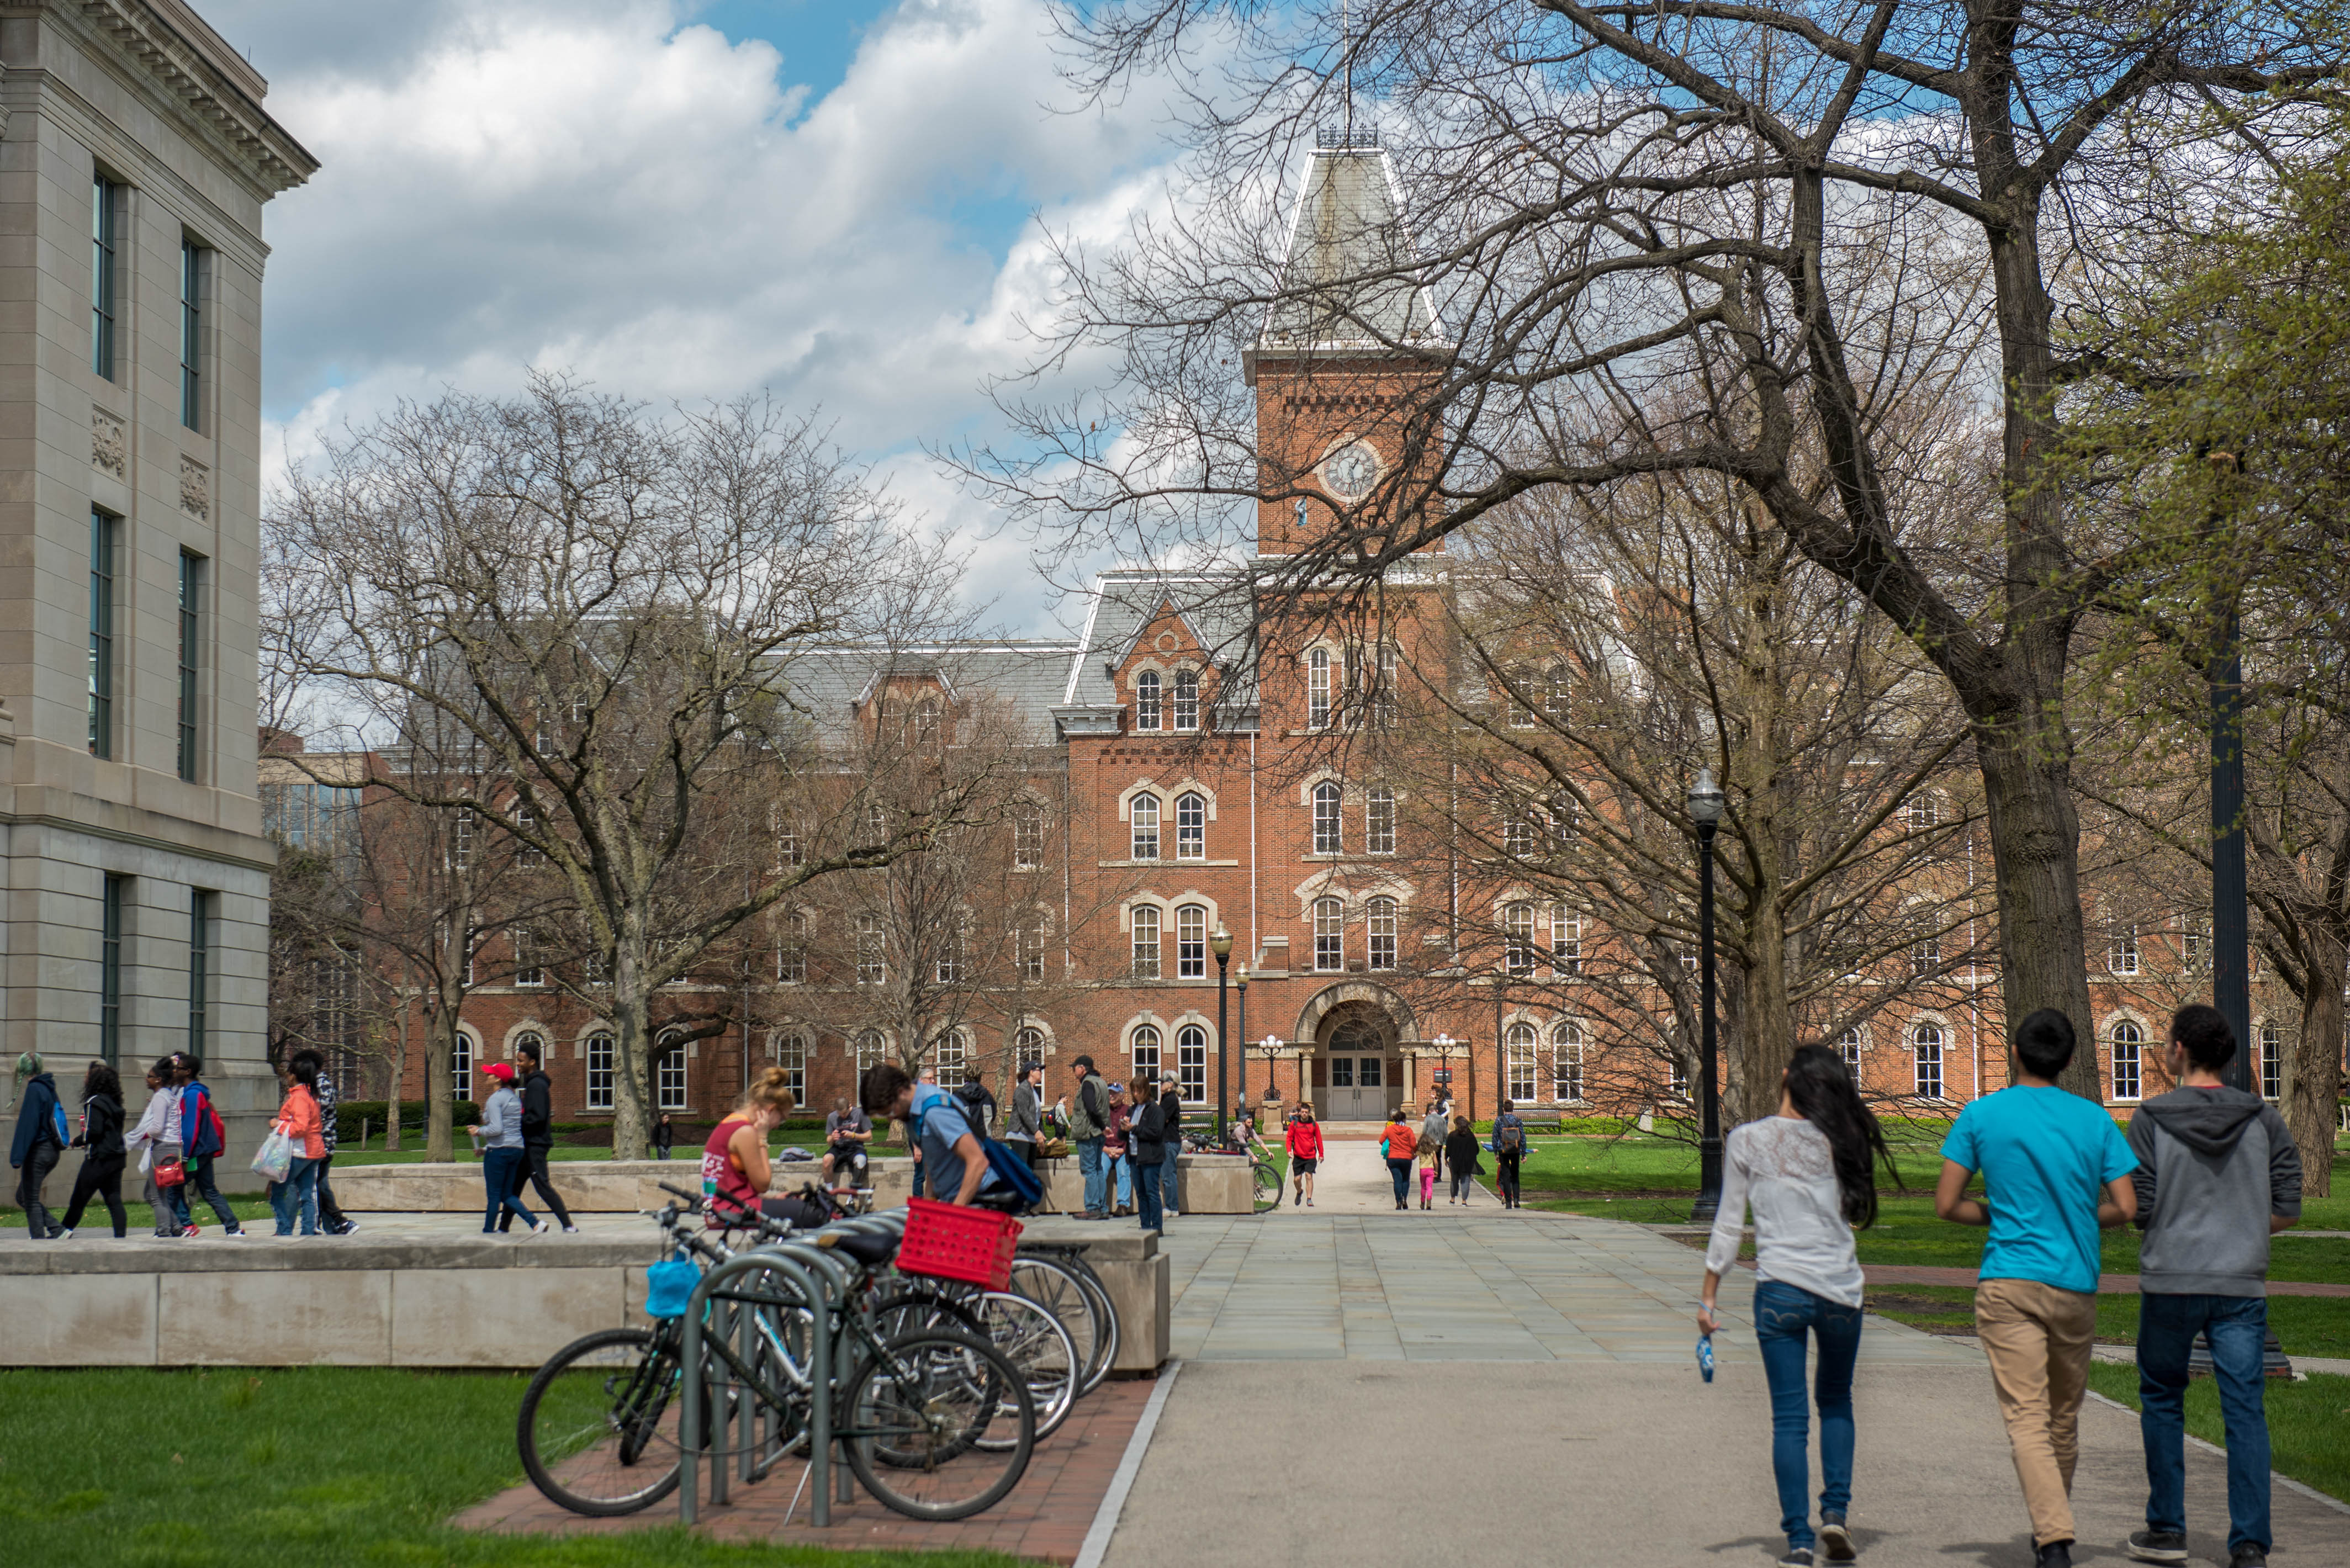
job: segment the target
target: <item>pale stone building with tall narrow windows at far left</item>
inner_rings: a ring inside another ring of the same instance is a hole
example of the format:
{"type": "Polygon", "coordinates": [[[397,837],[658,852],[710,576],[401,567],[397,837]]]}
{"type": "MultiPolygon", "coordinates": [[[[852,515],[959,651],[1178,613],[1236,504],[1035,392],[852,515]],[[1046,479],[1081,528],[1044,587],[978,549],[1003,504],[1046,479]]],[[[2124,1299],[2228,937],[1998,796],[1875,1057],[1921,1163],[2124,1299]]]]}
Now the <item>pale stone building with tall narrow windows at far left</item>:
{"type": "Polygon", "coordinates": [[[317,172],[183,0],[0,14],[0,1030],[263,1067],[261,209],[317,172]]]}

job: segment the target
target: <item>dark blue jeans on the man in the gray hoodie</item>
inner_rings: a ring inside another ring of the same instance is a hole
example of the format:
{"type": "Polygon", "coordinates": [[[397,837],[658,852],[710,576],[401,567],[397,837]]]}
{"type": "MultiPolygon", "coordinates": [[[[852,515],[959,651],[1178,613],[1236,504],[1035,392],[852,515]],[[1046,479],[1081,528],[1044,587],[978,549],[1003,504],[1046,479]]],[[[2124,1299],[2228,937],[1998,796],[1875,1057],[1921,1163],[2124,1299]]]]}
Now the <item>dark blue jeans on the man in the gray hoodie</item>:
{"type": "Polygon", "coordinates": [[[2211,1382],[2228,1427],[2228,1552],[2268,1552],[2268,1410],[2261,1345],[2268,1300],[2261,1295],[2138,1298],[2138,1436],[2146,1443],[2146,1528],[2188,1528],[2188,1347],[2211,1335],[2211,1382]]]}

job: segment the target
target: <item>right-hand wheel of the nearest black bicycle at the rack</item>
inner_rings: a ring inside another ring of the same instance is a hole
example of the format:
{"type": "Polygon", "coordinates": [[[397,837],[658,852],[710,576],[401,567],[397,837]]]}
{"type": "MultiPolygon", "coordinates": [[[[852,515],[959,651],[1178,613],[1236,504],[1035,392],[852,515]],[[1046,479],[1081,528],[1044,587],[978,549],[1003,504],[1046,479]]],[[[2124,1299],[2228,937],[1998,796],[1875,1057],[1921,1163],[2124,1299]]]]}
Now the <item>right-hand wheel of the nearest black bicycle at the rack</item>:
{"type": "Polygon", "coordinates": [[[867,1356],[841,1387],[834,1427],[848,1467],[907,1519],[968,1519],[1020,1483],[1036,1450],[1036,1403],[1003,1354],[956,1333],[916,1333],[867,1356]],[[980,1448],[1001,1427],[1006,1448],[980,1448]],[[916,1462],[877,1462],[877,1450],[916,1462]]]}

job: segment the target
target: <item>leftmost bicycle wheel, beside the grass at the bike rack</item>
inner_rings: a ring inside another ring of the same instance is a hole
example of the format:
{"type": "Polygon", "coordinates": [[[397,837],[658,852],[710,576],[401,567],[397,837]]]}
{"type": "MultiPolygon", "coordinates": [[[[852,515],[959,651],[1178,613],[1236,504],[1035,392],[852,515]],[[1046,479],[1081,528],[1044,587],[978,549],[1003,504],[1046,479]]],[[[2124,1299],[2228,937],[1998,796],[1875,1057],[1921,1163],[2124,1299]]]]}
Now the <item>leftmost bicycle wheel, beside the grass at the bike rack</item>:
{"type": "Polygon", "coordinates": [[[555,1352],[522,1392],[522,1469],[573,1514],[634,1514],[677,1490],[677,1340],[604,1328],[555,1352]]]}

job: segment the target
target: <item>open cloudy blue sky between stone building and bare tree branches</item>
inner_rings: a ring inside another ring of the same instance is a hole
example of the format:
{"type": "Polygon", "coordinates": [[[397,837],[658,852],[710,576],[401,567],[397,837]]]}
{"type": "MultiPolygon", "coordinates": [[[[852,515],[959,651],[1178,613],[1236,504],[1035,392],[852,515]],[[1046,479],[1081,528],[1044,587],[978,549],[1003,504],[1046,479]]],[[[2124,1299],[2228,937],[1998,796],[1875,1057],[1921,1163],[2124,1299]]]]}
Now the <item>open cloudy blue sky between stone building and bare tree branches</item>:
{"type": "Polygon", "coordinates": [[[1041,0],[195,0],[322,162],[266,212],[263,468],[531,367],[820,407],[971,550],[1003,630],[1074,616],[924,444],[996,430],[1043,228],[1112,235],[1175,148],[1083,110],[1041,0]]]}

